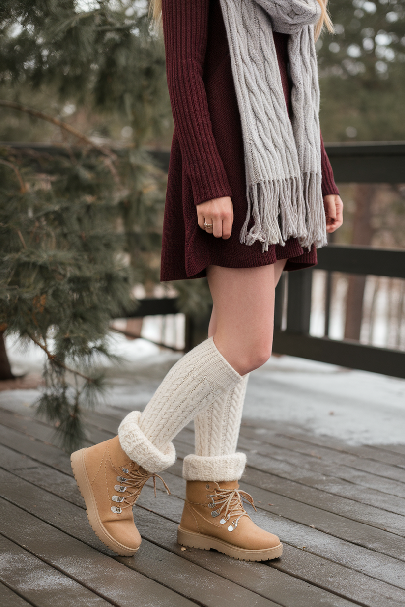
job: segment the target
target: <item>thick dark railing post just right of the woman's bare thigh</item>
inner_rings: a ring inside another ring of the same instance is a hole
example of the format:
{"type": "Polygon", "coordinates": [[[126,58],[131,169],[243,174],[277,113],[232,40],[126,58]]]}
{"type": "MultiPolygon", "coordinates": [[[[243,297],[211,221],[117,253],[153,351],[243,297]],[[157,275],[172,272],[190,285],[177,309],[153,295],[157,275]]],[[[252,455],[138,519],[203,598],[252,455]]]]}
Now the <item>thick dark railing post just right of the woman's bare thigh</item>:
{"type": "Polygon", "coordinates": [[[288,273],[287,331],[309,333],[312,270],[288,273]]]}

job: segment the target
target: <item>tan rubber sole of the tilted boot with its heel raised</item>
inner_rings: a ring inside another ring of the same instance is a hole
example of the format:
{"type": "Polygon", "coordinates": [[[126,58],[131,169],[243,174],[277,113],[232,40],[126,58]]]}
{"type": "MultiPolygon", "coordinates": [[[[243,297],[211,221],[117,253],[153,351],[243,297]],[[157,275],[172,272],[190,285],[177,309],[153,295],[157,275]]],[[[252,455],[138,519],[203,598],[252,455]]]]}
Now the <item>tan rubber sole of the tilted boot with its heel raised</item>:
{"type": "Polygon", "coordinates": [[[84,449],[80,449],[79,451],[75,451],[70,456],[70,464],[72,466],[73,475],[75,476],[75,480],[77,482],[77,486],[79,487],[81,496],[86,502],[86,513],[87,518],[89,519],[89,523],[99,538],[106,544],[106,546],[112,551],[119,554],[121,557],[133,557],[135,552],[137,552],[138,548],[128,548],[128,546],[124,546],[119,541],[115,540],[112,535],[105,529],[103,523],[101,522],[100,515],[98,514],[97,504],[94,497],[94,492],[92,490],[92,486],[89,480],[89,476],[87,476],[86,466],[84,466],[84,452],[86,451],[86,447],[84,449]]]}

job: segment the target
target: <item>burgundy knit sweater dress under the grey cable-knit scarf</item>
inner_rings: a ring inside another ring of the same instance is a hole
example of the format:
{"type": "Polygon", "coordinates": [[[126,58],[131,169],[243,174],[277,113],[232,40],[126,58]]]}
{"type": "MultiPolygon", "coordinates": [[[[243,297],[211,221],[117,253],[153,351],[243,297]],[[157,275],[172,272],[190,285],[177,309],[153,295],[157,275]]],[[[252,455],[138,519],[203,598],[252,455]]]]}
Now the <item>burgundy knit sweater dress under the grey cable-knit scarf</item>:
{"type": "MultiPolygon", "coordinates": [[[[219,0],[163,0],[166,72],[174,118],[166,193],[161,280],[206,276],[210,264],[251,268],[287,259],[285,270],[316,264],[316,249],[297,239],[285,246],[240,243],[247,214],[245,163],[239,110],[219,0]],[[230,196],[232,235],[214,238],[197,224],[195,205],[230,196]]],[[[285,103],[291,117],[288,35],[274,33],[285,103]]],[[[320,135],[321,137],[321,135],[320,135]]],[[[322,141],[322,137],[321,137],[322,141]]],[[[338,194],[322,147],[322,194],[338,194]]]]}

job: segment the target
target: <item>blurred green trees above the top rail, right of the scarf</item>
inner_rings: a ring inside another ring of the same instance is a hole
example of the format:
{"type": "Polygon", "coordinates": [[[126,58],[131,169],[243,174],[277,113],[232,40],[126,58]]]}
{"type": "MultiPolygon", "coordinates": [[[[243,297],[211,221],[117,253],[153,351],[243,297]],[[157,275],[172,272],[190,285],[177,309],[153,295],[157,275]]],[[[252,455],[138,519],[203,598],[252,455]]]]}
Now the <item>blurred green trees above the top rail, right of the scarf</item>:
{"type": "Polygon", "coordinates": [[[331,0],[317,42],[325,141],[405,141],[405,0],[331,0]]]}

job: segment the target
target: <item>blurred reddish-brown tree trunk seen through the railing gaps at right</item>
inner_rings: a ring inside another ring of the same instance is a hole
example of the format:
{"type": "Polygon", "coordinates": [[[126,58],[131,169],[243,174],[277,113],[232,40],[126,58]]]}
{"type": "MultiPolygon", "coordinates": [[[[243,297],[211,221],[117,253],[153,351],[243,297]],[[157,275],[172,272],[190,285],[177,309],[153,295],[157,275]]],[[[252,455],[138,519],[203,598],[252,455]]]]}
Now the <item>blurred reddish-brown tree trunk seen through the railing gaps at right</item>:
{"type": "MultiPolygon", "coordinates": [[[[358,183],[356,185],[356,212],[353,219],[353,245],[370,245],[374,230],[371,226],[371,208],[378,191],[375,183],[358,183]]],[[[360,339],[361,314],[366,276],[351,274],[347,289],[345,339],[360,339]]]]}

